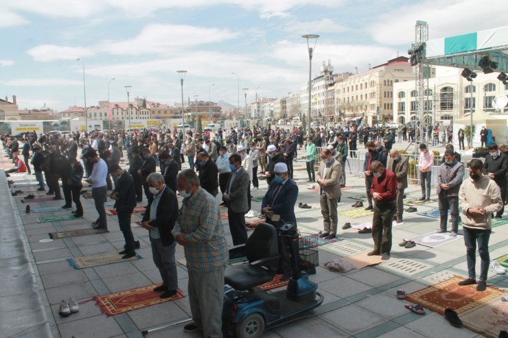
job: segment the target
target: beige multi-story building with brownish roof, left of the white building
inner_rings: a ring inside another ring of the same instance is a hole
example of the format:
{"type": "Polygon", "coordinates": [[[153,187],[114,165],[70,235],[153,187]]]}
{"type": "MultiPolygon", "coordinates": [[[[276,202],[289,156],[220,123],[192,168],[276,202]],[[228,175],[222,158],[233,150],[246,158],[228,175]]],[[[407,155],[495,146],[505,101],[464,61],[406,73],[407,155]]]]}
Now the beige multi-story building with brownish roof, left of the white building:
{"type": "Polygon", "coordinates": [[[348,74],[334,85],[335,116],[345,120],[362,118],[368,125],[391,121],[393,85],[414,79],[414,69],[404,56],[348,74]]]}

